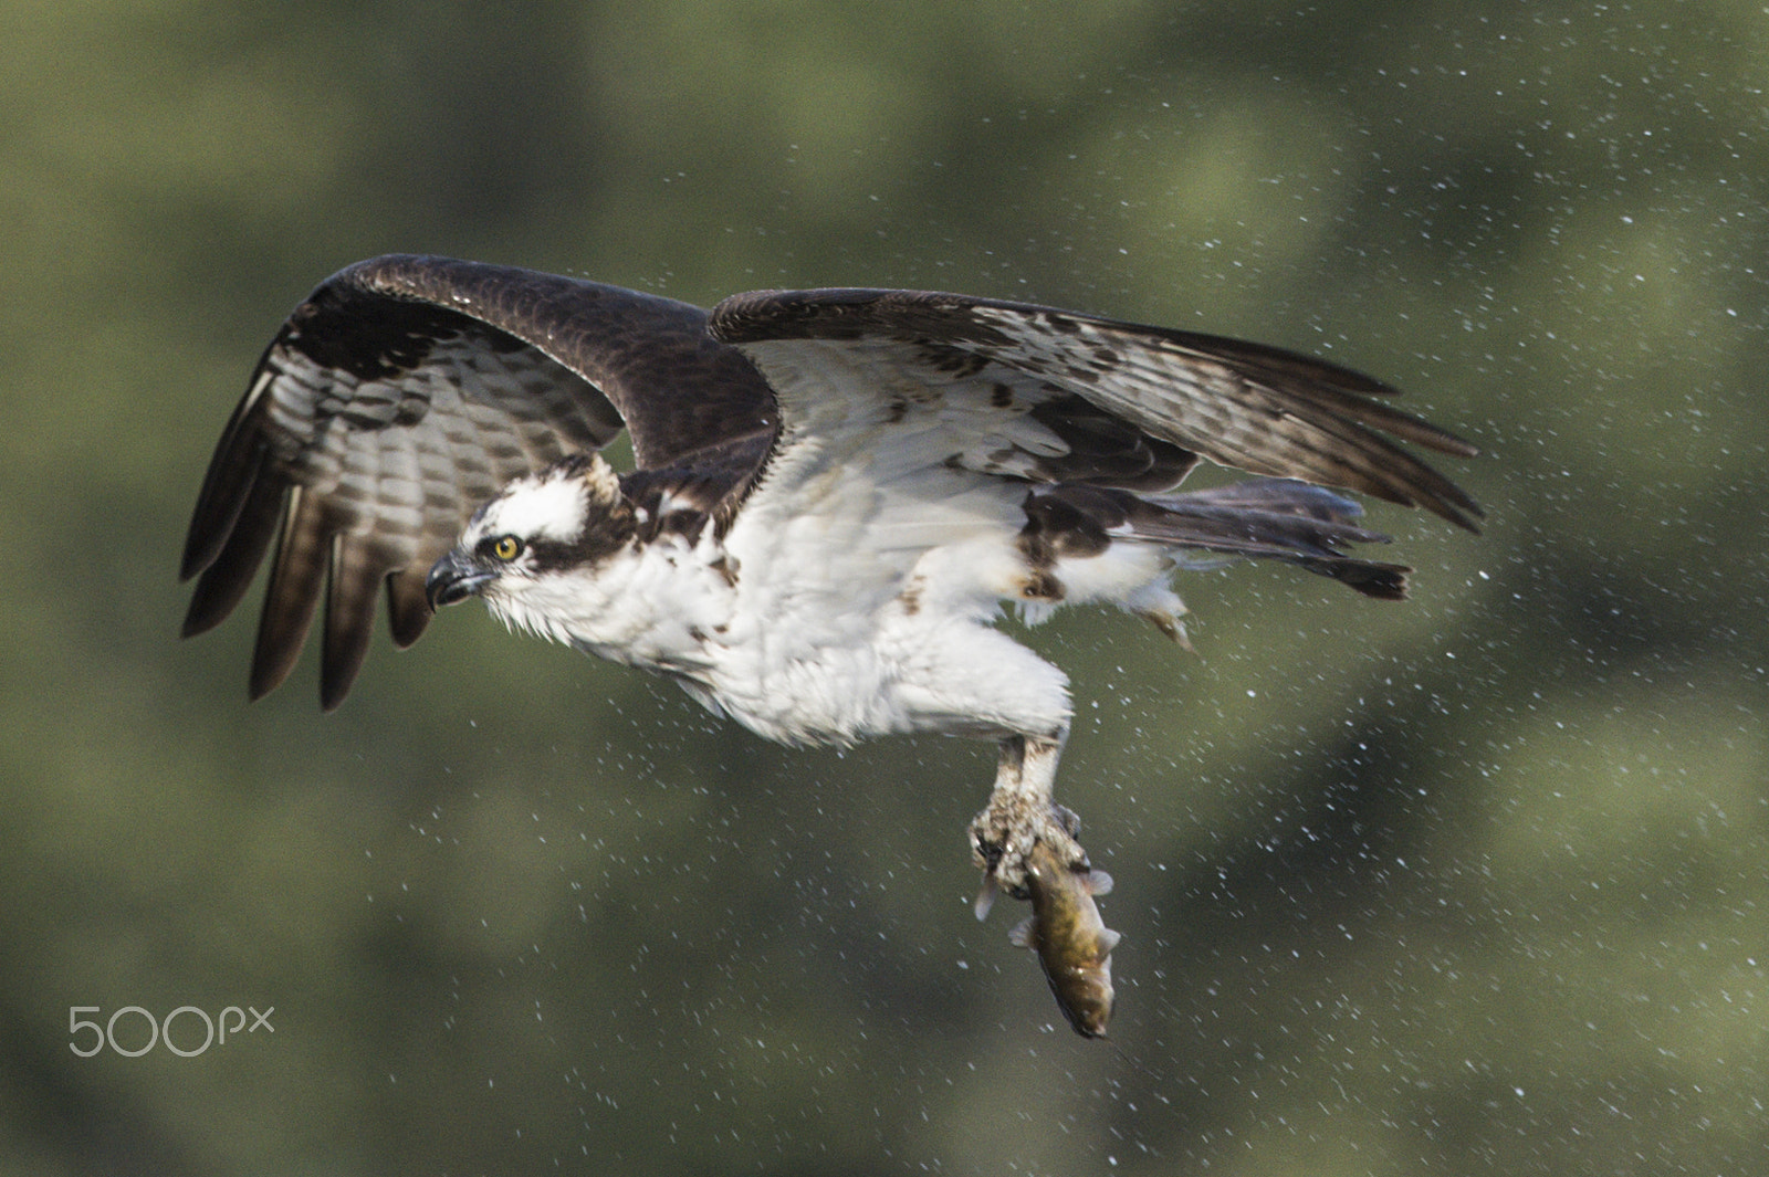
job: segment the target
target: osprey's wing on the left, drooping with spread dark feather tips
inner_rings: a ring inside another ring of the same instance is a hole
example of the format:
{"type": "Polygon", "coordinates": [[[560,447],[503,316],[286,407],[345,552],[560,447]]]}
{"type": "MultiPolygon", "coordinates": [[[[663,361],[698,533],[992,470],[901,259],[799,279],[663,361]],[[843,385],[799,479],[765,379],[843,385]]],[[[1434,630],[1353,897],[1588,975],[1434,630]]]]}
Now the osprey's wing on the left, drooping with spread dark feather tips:
{"type": "Polygon", "coordinates": [[[377,587],[410,645],[430,564],[509,479],[624,424],[640,468],[713,465],[736,488],[771,417],[701,308],[474,262],[361,262],[295,308],[221,435],[184,548],[182,576],[200,576],[184,633],[239,604],[274,541],[251,696],[288,675],[324,590],[320,702],[336,707],[377,587]]]}

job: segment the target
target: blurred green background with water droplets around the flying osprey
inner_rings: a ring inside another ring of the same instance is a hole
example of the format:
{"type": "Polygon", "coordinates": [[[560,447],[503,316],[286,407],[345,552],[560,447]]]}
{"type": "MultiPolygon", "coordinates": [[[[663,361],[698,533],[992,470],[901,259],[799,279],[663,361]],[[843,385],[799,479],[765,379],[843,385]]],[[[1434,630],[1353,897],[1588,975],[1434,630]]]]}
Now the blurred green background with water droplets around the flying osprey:
{"type": "Polygon", "coordinates": [[[0,1172],[1762,1172],[1757,5],[0,12],[0,1172]],[[1028,636],[1118,878],[1084,1043],[969,914],[985,746],[764,746],[478,610],[325,718],[177,642],[246,373],[384,251],[1316,352],[1489,528],[1373,509],[1401,606],[1194,574],[1198,657],[1028,636]]]}

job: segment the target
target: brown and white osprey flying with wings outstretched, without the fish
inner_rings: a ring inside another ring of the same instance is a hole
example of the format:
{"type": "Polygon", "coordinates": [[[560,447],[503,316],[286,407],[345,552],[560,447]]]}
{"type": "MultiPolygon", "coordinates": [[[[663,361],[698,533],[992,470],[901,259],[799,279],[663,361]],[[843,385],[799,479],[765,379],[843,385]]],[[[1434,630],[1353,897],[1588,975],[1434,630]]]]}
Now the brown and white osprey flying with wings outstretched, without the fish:
{"type": "Polygon", "coordinates": [[[398,647],[476,596],[773,740],[996,740],[971,845],[985,891],[1024,898],[1038,843],[1077,871],[1086,854],[1051,795],[1068,682],[994,627],[1003,604],[1114,604],[1183,642],[1171,574],[1224,557],[1401,597],[1408,569],[1352,555],[1385,537],[1325,488],[1470,530],[1481,509],[1396,440],[1477,451],[1390,394],[1277,348],[1019,302],[768,290],[706,311],[373,258],[258,362],[196,502],[184,633],[221,622],[274,546],[253,698],[324,597],[336,707],[384,587],[398,647]],[[623,428],[617,474],[598,451],[623,428]],[[1178,493],[1201,458],[1261,477],[1178,493]]]}

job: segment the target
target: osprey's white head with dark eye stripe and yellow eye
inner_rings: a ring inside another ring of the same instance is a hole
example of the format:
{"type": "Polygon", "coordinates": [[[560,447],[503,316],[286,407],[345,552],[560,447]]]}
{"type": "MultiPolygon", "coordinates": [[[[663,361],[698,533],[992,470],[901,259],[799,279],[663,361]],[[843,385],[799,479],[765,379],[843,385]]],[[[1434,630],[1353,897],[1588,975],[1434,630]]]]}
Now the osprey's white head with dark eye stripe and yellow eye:
{"type": "Polygon", "coordinates": [[[559,573],[619,551],[633,537],[633,509],[600,454],[573,454],[509,482],[479,507],[425,578],[430,608],[485,597],[509,617],[559,573]]]}

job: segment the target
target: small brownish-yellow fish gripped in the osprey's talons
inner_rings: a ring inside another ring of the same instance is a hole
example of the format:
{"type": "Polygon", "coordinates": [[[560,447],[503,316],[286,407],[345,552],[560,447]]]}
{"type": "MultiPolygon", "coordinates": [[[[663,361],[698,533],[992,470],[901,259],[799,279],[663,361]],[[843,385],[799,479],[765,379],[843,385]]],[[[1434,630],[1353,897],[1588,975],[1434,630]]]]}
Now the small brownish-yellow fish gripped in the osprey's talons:
{"type": "Polygon", "coordinates": [[[1056,1007],[1081,1037],[1106,1037],[1111,1021],[1111,951],[1122,937],[1106,926],[1093,896],[1111,891],[1111,875],[1068,866],[1047,843],[1026,857],[1028,915],[1008,940],[1031,949],[1051,983],[1056,1007]]]}

